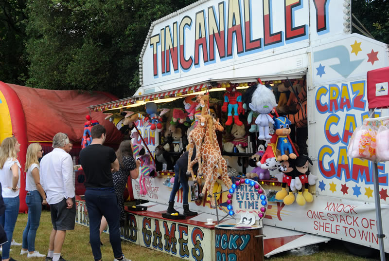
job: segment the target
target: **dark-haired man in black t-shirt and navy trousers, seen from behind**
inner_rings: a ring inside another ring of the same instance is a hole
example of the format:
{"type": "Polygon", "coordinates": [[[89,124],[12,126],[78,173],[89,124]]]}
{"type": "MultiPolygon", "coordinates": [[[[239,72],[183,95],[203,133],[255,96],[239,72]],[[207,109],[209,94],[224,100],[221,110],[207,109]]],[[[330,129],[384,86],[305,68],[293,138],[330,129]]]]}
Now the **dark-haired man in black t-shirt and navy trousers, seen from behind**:
{"type": "Polygon", "coordinates": [[[106,129],[97,124],[90,130],[92,142],[80,151],[81,166],[84,169],[85,202],[89,214],[89,242],[95,261],[101,261],[100,222],[102,216],[109,226],[114,261],[128,261],[122,252],[120,239],[120,208],[115,194],[112,171],[119,170],[119,161],[112,148],[103,146],[106,129]]]}

